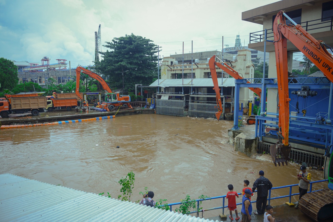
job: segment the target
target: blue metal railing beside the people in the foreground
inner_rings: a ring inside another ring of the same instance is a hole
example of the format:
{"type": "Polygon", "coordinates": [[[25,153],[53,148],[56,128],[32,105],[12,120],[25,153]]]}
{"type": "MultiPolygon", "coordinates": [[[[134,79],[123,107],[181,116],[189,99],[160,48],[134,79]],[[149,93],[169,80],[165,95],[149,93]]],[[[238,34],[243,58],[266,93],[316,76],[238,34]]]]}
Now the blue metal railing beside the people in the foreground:
{"type": "MultiPolygon", "coordinates": [[[[311,181],[310,182],[310,191],[308,191],[308,193],[318,191],[318,190],[312,190],[312,184],[313,183],[320,183],[320,182],[325,182],[325,181],[328,181],[328,180],[326,179],[326,180],[311,181]]],[[[292,193],[291,189],[292,189],[293,186],[298,186],[298,184],[278,186],[278,187],[273,187],[272,189],[270,189],[268,191],[268,197],[267,197],[268,204],[270,205],[270,201],[271,200],[280,199],[280,198],[286,198],[286,197],[289,197],[289,203],[291,203],[291,197],[295,196],[295,195],[299,195],[299,193],[292,193]],[[278,196],[278,197],[271,197],[272,190],[282,189],[282,188],[289,188],[289,194],[288,195],[283,195],[283,196],[278,196]]],[[[255,191],[255,192],[257,192],[257,191],[255,191]]],[[[238,195],[242,195],[242,194],[238,193],[238,195]]],[[[225,205],[225,197],[226,197],[226,195],[217,196],[217,197],[209,197],[209,198],[206,198],[206,199],[197,199],[197,200],[195,200],[196,204],[197,204],[197,210],[190,212],[190,214],[191,213],[198,213],[198,212],[209,211],[209,210],[217,210],[217,209],[222,209],[222,214],[224,214],[224,208],[228,207],[228,205],[225,205]],[[209,209],[202,209],[202,210],[198,211],[198,209],[199,209],[199,201],[213,200],[213,199],[220,199],[220,198],[222,198],[222,206],[220,206],[220,207],[213,207],[213,208],[209,208],[209,209]]],[[[255,203],[255,202],[257,202],[257,201],[251,200],[251,203],[255,203]]],[[[168,206],[170,207],[170,211],[172,211],[172,206],[180,205],[180,204],[182,204],[182,203],[181,202],[177,202],[177,203],[170,203],[170,204],[168,204],[168,206]]],[[[241,205],[241,204],[242,203],[237,203],[236,205],[241,205]]]]}

